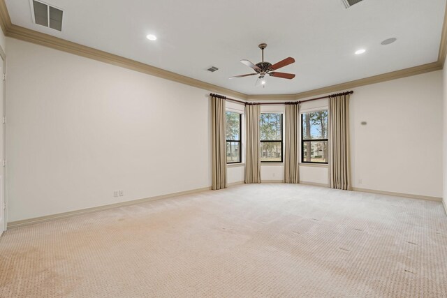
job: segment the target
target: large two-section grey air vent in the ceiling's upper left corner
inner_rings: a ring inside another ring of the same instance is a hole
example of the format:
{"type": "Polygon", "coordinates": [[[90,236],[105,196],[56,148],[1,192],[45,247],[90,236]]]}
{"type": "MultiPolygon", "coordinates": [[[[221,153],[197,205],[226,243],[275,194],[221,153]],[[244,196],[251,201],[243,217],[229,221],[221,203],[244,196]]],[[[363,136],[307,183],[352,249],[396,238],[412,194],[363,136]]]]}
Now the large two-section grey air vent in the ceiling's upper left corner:
{"type": "Polygon", "coordinates": [[[62,10],[36,0],[32,0],[32,4],[34,23],[62,31],[62,10]]]}

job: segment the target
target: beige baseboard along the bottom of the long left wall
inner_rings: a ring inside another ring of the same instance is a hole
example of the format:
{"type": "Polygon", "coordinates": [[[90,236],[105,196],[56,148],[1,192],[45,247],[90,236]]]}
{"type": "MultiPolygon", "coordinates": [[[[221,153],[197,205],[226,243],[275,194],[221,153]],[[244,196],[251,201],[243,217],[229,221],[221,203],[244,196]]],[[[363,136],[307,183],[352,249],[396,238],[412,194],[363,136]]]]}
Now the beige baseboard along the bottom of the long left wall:
{"type": "Polygon", "coordinates": [[[68,211],[68,212],[59,213],[59,214],[51,214],[51,215],[40,216],[40,217],[36,217],[36,218],[28,218],[28,219],[23,219],[21,221],[11,221],[10,223],[8,223],[7,227],[8,227],[8,229],[10,229],[10,228],[22,227],[24,225],[33,225],[35,223],[45,223],[47,221],[54,221],[55,219],[78,216],[78,215],[82,215],[82,214],[88,214],[88,213],[92,213],[92,212],[103,211],[103,210],[108,210],[108,209],[117,208],[117,207],[130,206],[133,204],[140,204],[140,203],[144,203],[144,202],[151,202],[151,201],[155,201],[155,200],[173,198],[173,197],[177,197],[179,195],[189,195],[191,193],[200,193],[202,191],[210,191],[210,190],[211,190],[211,187],[196,188],[196,189],[191,189],[190,191],[180,191],[178,193],[169,193],[167,195],[156,195],[156,196],[150,197],[150,198],[131,200],[131,201],[126,201],[126,202],[119,202],[119,203],[115,203],[115,204],[107,204],[107,205],[98,206],[98,207],[91,207],[91,208],[87,208],[87,209],[68,211]]]}

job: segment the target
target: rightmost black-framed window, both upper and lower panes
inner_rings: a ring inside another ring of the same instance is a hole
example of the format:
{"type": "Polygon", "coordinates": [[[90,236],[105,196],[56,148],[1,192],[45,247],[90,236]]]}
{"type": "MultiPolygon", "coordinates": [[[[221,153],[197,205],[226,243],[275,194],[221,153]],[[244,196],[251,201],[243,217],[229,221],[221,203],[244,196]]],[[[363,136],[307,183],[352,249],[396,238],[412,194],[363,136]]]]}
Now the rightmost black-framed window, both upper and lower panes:
{"type": "Polygon", "coordinates": [[[328,163],[328,110],[301,114],[301,162],[328,163]]]}

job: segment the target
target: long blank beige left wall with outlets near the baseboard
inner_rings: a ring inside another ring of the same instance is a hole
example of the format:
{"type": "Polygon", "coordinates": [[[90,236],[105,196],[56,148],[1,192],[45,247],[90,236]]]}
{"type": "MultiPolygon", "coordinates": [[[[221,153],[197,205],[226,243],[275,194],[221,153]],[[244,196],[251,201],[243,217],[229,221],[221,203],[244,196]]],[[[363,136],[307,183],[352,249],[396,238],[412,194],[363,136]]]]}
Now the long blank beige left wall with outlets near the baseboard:
{"type": "Polygon", "coordinates": [[[9,222],[211,185],[209,91],[7,43],[9,222]]]}

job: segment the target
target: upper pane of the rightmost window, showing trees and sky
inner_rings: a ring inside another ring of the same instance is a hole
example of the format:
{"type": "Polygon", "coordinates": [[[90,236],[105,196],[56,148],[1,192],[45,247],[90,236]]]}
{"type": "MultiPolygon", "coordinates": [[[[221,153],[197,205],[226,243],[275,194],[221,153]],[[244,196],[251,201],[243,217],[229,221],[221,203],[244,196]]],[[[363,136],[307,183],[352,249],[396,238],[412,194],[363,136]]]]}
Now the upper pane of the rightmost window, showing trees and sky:
{"type": "Polygon", "coordinates": [[[302,114],[302,140],[328,138],[328,110],[302,114]]]}

